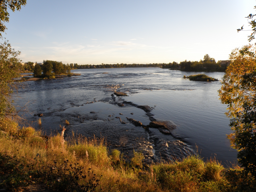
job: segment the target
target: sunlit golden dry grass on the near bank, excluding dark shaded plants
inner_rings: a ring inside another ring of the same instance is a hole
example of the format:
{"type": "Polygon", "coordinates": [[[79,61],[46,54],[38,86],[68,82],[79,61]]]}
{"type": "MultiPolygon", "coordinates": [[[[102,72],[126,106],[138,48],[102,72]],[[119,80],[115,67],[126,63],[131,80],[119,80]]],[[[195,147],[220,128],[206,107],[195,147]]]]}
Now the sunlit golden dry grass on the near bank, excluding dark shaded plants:
{"type": "MultiPolygon", "coordinates": [[[[189,156],[182,161],[159,163],[142,168],[143,155],[134,151],[130,162],[125,162],[120,151],[108,152],[104,139],[73,136],[64,140],[61,134],[49,139],[32,127],[18,128],[14,122],[9,126],[1,122],[1,129],[14,137],[0,136],[0,153],[15,156],[34,170],[54,166],[69,160],[77,162],[82,170],[93,170],[100,178],[96,191],[130,192],[220,192],[232,191],[234,186],[221,173],[223,166],[216,160],[204,162],[198,156],[189,156]],[[16,125],[16,127],[15,127],[16,125]]],[[[80,183],[88,182],[87,178],[80,183]]]]}

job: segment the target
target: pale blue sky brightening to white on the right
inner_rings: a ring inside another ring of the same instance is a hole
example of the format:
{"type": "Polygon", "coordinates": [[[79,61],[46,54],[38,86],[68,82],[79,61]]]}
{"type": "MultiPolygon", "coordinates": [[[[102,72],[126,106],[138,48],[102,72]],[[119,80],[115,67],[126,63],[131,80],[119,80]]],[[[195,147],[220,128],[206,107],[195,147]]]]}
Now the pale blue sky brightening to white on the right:
{"type": "MultiPolygon", "coordinates": [[[[248,44],[255,0],[27,0],[3,35],[23,62],[78,64],[228,60],[248,44]]],[[[3,40],[2,40],[3,41],[3,40]]],[[[254,43],[254,42],[253,42],[254,43]]]]}

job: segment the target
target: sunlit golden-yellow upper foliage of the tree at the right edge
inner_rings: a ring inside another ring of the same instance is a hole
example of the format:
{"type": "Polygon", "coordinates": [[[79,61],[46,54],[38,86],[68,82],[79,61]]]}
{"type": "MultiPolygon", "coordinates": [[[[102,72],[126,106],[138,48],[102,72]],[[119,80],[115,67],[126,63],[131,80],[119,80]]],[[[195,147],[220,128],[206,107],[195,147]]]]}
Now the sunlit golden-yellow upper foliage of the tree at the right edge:
{"type": "Polygon", "coordinates": [[[231,63],[226,69],[222,78],[222,87],[219,96],[223,104],[228,104],[229,117],[236,116],[237,112],[243,110],[244,102],[252,102],[256,94],[256,87],[248,86],[246,89],[241,86],[241,78],[256,70],[256,46],[246,45],[241,49],[234,49],[230,54],[231,63]]]}

